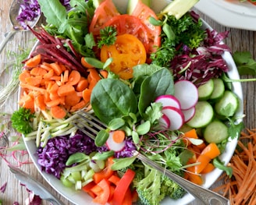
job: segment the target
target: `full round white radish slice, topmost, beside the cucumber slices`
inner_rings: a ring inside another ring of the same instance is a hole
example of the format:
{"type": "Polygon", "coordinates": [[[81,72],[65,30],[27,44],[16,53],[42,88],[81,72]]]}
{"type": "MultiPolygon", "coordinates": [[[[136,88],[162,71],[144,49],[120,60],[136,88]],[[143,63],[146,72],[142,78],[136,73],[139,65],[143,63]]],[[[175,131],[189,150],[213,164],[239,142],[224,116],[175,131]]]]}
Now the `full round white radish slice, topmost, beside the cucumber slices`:
{"type": "Polygon", "coordinates": [[[181,109],[187,110],[195,106],[198,101],[198,90],[189,80],[180,80],[174,84],[174,96],[180,101],[181,109]]]}

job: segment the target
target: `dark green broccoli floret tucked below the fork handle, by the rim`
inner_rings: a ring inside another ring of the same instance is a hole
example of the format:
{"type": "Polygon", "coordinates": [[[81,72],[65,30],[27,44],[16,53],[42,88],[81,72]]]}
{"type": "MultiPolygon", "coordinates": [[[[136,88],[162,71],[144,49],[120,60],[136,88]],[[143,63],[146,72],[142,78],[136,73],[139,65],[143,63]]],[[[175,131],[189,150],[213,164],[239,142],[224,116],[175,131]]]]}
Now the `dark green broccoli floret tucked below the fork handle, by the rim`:
{"type": "Polygon", "coordinates": [[[185,189],[180,187],[176,182],[173,182],[170,178],[162,175],[161,194],[169,196],[172,200],[178,200],[187,193],[185,189]]]}

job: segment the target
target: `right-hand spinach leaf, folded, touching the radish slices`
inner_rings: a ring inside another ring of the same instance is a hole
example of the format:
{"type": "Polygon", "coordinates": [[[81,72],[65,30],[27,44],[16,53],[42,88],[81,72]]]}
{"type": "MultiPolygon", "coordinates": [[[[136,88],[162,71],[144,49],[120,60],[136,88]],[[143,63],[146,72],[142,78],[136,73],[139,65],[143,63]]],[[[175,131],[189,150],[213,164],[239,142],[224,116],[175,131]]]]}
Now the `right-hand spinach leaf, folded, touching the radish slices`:
{"type": "Polygon", "coordinates": [[[140,98],[138,108],[140,115],[144,115],[144,111],[155,98],[163,94],[174,94],[173,77],[169,69],[160,69],[148,76],[140,87],[140,98]]]}

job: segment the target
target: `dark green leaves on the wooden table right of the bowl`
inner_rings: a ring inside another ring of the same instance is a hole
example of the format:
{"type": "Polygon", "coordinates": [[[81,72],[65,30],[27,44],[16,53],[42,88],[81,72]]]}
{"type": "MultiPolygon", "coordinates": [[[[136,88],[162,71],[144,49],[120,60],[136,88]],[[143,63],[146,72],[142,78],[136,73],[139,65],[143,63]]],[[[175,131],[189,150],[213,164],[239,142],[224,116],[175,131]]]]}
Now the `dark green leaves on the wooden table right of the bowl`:
{"type": "Polygon", "coordinates": [[[256,76],[256,61],[250,51],[235,51],[233,60],[240,75],[256,76]]]}

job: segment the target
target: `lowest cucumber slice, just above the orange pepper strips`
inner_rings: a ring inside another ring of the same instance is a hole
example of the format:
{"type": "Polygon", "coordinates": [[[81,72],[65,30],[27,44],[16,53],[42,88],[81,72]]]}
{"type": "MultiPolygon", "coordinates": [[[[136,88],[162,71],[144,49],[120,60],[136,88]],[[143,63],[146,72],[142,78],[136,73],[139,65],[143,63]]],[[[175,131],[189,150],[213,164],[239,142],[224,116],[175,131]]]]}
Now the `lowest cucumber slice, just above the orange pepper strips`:
{"type": "Polygon", "coordinates": [[[204,129],[204,140],[208,143],[221,143],[228,136],[228,127],[219,120],[210,122],[204,129]]]}

